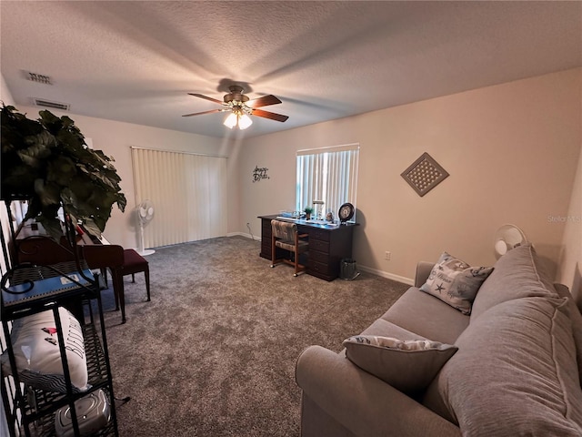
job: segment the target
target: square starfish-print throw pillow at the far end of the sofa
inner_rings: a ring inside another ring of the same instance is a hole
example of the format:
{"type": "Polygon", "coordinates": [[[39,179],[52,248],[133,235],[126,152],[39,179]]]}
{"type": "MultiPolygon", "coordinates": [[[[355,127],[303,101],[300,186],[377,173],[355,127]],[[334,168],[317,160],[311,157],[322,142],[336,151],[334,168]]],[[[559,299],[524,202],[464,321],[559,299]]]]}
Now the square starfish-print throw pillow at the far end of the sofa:
{"type": "Polygon", "coordinates": [[[443,300],[463,314],[471,313],[471,304],[492,267],[471,267],[443,252],[420,290],[443,300]]]}

